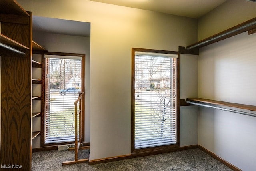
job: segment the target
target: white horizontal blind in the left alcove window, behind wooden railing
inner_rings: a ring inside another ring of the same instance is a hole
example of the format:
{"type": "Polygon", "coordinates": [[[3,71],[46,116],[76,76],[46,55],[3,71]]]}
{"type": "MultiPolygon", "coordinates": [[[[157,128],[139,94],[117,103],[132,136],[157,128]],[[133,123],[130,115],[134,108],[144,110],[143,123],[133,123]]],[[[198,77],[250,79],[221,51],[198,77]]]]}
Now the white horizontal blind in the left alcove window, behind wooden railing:
{"type": "Polygon", "coordinates": [[[74,102],[81,89],[81,60],[46,58],[45,87],[45,143],[74,141],[74,102]],[[60,94],[60,90],[71,87],[76,91],[60,94]]]}

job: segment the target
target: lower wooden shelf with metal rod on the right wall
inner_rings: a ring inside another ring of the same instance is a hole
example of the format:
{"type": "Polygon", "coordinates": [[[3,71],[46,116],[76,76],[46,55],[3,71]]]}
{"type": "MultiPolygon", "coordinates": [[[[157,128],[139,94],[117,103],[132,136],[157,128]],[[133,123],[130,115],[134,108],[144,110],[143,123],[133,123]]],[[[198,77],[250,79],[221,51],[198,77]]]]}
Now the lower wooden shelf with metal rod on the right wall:
{"type": "Polygon", "coordinates": [[[251,111],[256,111],[256,106],[252,106],[252,105],[243,105],[243,104],[238,104],[238,103],[229,103],[229,102],[225,102],[225,101],[216,101],[216,100],[201,99],[201,98],[187,98],[186,103],[256,117],[256,114],[254,114],[254,113],[214,106],[214,105],[222,105],[222,106],[235,107],[235,108],[239,108],[239,109],[247,109],[247,110],[251,110],[251,111]]]}

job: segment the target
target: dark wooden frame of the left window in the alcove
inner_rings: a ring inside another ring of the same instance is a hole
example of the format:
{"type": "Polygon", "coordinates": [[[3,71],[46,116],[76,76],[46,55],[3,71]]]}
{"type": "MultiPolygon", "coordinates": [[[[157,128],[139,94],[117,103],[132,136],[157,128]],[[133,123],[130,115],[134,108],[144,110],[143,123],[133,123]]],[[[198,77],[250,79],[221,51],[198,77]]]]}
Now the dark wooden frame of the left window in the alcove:
{"type": "MultiPolygon", "coordinates": [[[[63,52],[44,52],[42,54],[42,100],[41,100],[41,147],[48,147],[54,145],[65,145],[75,143],[75,141],[60,142],[60,143],[44,143],[45,142],[45,81],[46,81],[46,59],[45,55],[53,56],[77,56],[81,57],[81,92],[85,91],[85,54],[75,54],[75,53],[63,53],[63,52]]],[[[82,113],[81,113],[81,142],[85,141],[85,95],[82,98],[82,113]]]]}

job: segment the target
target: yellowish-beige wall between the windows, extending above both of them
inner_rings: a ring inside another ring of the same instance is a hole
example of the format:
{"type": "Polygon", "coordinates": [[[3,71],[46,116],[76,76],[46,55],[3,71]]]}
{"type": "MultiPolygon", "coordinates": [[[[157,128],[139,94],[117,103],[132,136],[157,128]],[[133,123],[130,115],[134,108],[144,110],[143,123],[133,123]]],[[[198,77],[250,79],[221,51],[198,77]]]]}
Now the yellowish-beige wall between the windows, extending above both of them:
{"type": "Polygon", "coordinates": [[[90,160],[130,154],[131,48],[178,51],[197,41],[197,20],[88,0],[18,2],[36,16],[91,23],[90,160]]]}

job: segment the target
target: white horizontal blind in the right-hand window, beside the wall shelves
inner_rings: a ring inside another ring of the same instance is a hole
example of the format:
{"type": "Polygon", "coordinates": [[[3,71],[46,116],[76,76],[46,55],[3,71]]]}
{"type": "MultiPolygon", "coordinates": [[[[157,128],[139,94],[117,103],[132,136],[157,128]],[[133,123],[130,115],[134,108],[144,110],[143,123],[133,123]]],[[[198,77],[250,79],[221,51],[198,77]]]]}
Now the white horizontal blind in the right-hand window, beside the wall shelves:
{"type": "Polygon", "coordinates": [[[177,142],[176,58],[135,52],[135,149],[177,142]]]}

